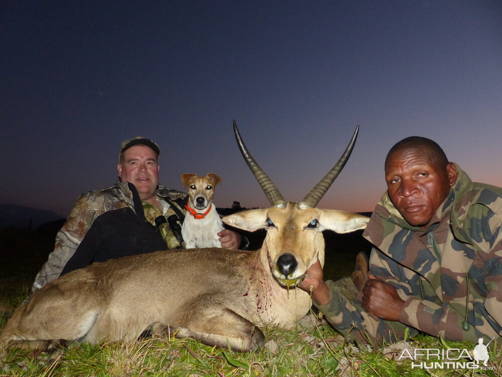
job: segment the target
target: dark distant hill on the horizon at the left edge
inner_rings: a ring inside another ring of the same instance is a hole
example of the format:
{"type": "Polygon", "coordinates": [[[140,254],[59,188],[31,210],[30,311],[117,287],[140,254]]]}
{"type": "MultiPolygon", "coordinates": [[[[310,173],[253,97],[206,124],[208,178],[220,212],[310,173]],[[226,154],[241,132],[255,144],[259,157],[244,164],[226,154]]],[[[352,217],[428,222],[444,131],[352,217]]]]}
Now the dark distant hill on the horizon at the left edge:
{"type": "Polygon", "coordinates": [[[62,219],[61,216],[49,210],[0,204],[0,229],[35,230],[42,224],[62,219]]]}

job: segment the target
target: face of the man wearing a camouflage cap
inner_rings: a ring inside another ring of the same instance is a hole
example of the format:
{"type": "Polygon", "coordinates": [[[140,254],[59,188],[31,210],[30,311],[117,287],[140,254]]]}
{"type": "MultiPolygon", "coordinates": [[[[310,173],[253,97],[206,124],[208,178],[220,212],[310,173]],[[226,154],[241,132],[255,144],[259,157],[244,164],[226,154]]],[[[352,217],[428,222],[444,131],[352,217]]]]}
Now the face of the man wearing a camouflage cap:
{"type": "Polygon", "coordinates": [[[146,145],[134,145],[122,153],[117,165],[120,182],[131,182],[136,186],[140,198],[148,201],[155,196],[159,183],[158,156],[146,145]]]}

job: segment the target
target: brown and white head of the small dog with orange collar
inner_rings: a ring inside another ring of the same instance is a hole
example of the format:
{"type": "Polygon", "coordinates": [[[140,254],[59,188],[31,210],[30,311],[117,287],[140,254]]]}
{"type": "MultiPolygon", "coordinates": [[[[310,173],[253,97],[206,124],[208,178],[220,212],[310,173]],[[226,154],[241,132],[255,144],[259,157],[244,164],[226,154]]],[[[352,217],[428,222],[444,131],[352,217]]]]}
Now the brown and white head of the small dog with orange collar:
{"type": "Polygon", "coordinates": [[[181,176],[183,187],[187,187],[188,198],[192,208],[203,210],[209,206],[213,200],[214,186],[221,182],[221,178],[209,173],[205,177],[197,174],[183,174],[181,176]]]}

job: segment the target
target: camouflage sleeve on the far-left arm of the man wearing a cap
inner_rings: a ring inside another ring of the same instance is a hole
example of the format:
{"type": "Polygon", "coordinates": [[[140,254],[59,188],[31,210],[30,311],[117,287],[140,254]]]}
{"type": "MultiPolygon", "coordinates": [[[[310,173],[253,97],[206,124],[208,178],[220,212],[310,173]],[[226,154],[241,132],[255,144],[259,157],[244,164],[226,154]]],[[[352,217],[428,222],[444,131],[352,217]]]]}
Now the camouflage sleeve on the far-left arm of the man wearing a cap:
{"type": "Polygon", "coordinates": [[[88,194],[83,194],[78,198],[66,222],[56,235],[54,251],[49,254],[47,262],[35,277],[32,293],[59,277],[66,262],[75,253],[100,212],[102,211],[98,211],[96,203],[89,200],[88,194]]]}

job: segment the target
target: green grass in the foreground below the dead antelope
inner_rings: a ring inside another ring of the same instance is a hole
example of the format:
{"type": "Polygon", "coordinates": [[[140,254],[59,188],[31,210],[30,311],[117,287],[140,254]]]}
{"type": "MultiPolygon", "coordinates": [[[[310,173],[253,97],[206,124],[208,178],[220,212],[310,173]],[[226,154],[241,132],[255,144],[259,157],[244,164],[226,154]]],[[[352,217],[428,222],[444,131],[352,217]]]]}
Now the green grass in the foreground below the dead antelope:
{"type": "MultiPolygon", "coordinates": [[[[329,325],[308,330],[266,328],[275,342],[254,353],[230,352],[202,345],[192,339],[153,338],[138,342],[103,342],[72,345],[52,363],[48,356],[29,350],[11,350],[0,362],[0,375],[9,376],[494,376],[500,374],[500,347],[490,347],[494,370],[411,369],[411,362],[397,363],[381,353],[380,346],[357,348],[344,343],[329,325]],[[343,368],[341,368],[343,366],[343,368]],[[341,368],[341,369],[340,369],[341,368]],[[345,370],[343,374],[342,370],[345,370]]],[[[450,347],[472,349],[473,344],[446,342],[450,347]]],[[[415,348],[441,348],[439,340],[419,336],[415,348]]]]}

